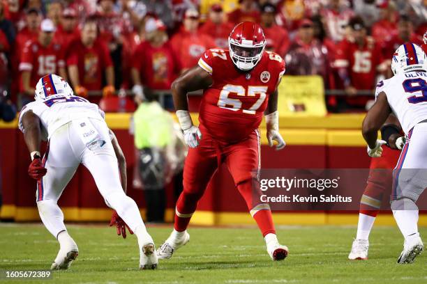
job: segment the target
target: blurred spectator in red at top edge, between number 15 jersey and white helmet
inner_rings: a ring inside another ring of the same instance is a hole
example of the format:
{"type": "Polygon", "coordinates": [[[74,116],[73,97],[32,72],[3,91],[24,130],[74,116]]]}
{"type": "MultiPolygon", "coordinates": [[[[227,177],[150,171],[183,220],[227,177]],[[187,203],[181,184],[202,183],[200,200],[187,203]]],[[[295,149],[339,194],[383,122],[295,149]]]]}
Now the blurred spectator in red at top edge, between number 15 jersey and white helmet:
{"type": "Polygon", "coordinates": [[[371,33],[379,45],[385,45],[398,33],[396,10],[389,1],[384,1],[377,7],[380,9],[380,20],[373,24],[371,33]]]}

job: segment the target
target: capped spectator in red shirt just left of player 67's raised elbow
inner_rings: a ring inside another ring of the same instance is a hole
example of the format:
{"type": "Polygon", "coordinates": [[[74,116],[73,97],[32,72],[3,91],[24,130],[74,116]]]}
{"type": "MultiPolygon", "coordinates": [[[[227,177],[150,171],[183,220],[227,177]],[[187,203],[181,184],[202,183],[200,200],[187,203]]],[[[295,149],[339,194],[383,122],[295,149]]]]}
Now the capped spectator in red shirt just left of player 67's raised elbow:
{"type": "Polygon", "coordinates": [[[132,61],[133,92],[142,96],[142,86],[169,90],[177,75],[177,63],[160,19],[149,18],[144,26],[145,41],[135,50],[132,61]]]}

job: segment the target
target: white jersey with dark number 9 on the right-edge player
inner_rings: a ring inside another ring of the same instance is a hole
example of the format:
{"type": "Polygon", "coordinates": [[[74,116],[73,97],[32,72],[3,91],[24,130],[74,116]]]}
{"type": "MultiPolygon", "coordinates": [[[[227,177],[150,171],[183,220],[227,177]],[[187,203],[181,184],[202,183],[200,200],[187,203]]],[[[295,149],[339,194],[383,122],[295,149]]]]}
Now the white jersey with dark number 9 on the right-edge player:
{"type": "Polygon", "coordinates": [[[405,134],[427,119],[427,72],[398,73],[377,84],[375,99],[381,92],[387,95],[405,134]]]}

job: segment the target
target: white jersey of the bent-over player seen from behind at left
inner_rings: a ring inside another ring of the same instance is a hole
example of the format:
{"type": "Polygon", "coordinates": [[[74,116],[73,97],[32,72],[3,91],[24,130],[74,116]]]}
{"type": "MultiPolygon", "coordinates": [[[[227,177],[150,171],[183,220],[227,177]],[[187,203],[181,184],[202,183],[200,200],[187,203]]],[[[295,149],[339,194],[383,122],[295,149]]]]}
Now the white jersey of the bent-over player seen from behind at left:
{"type": "Polygon", "coordinates": [[[40,118],[43,140],[46,141],[50,139],[58,127],[69,123],[71,120],[78,118],[103,120],[105,118],[104,111],[99,109],[97,104],[92,104],[83,97],[51,95],[45,100],[30,102],[22,108],[19,118],[19,127],[22,132],[24,132],[22,116],[29,110],[40,118]]]}

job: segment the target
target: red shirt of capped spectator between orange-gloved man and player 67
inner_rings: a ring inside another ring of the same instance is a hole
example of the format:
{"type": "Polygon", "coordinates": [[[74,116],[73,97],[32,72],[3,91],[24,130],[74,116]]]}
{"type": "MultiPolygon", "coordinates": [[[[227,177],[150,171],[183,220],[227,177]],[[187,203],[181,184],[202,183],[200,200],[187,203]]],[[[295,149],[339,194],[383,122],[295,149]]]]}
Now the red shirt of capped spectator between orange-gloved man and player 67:
{"type": "Polygon", "coordinates": [[[161,47],[141,42],[133,55],[132,67],[140,70],[144,86],[158,90],[170,89],[177,74],[177,63],[168,42],[161,47]]]}

